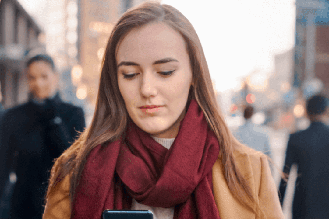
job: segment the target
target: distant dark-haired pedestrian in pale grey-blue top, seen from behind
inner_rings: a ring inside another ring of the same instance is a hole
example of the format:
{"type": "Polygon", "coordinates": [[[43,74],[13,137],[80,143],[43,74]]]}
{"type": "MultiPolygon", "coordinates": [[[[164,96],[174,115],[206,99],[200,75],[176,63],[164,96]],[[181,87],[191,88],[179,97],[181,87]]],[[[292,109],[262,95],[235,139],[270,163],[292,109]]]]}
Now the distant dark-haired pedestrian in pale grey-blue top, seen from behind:
{"type": "Polygon", "coordinates": [[[254,108],[250,105],[246,106],[243,112],[245,123],[238,127],[234,135],[241,143],[270,155],[271,149],[266,130],[251,121],[253,114],[254,108]]]}

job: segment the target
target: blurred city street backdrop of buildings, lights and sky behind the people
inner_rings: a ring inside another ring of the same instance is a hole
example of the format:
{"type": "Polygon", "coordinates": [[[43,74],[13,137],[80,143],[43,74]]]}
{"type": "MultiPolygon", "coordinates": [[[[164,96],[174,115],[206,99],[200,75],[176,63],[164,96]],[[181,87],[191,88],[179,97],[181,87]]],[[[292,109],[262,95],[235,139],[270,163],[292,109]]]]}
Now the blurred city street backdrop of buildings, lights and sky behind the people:
{"type": "MultiPolygon", "coordinates": [[[[38,53],[54,58],[60,95],[94,113],[101,61],[123,12],[143,0],[1,0],[1,105],[28,99],[24,62],[38,53]]],[[[252,122],[267,132],[271,157],[282,170],[289,134],[310,121],[305,102],[329,96],[329,0],[162,0],[194,26],[207,58],[218,103],[232,131],[252,122]]],[[[327,117],[329,118],[329,117],[327,117]]],[[[327,123],[329,119],[327,119],[327,123]]],[[[279,186],[279,171],[273,171],[279,186]]],[[[283,205],[291,218],[296,168],[283,205]]]]}

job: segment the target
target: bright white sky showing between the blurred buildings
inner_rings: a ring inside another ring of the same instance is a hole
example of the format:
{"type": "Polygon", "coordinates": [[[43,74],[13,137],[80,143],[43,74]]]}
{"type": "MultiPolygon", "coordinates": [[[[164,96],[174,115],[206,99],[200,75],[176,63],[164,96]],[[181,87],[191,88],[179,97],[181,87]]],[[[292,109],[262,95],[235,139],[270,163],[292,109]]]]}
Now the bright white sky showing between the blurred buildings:
{"type": "MultiPolygon", "coordinates": [[[[18,0],[42,27],[46,0],[18,0]]],[[[295,0],[162,0],[192,23],[216,89],[236,86],[255,69],[272,71],[273,55],[294,45],[295,0]]]]}

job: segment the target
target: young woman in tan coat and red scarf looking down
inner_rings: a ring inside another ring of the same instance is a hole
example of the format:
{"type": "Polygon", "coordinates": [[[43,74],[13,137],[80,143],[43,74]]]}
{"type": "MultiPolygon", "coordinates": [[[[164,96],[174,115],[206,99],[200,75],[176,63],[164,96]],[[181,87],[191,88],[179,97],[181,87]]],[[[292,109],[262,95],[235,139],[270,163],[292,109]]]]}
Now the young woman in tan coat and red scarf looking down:
{"type": "Polygon", "coordinates": [[[284,218],[266,156],[230,133],[198,36],[168,5],[144,3],[114,26],[92,124],[57,159],[43,218],[105,209],[284,218]]]}

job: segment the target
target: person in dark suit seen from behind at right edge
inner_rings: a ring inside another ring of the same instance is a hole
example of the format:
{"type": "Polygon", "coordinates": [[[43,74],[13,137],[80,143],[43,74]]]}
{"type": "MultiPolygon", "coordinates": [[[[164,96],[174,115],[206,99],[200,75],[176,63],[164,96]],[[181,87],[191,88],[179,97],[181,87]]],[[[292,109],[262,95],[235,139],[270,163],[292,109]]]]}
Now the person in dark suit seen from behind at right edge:
{"type": "MultiPolygon", "coordinates": [[[[329,218],[329,127],[322,122],[327,99],[316,95],[307,102],[311,125],[290,135],[284,173],[298,166],[293,198],[293,219],[329,218]]],[[[281,180],[279,196],[284,199],[286,182],[281,180]]],[[[281,203],[282,205],[282,203],[281,203]]]]}

